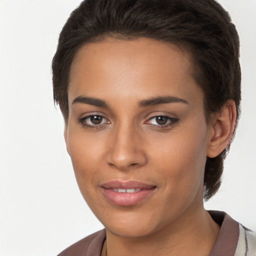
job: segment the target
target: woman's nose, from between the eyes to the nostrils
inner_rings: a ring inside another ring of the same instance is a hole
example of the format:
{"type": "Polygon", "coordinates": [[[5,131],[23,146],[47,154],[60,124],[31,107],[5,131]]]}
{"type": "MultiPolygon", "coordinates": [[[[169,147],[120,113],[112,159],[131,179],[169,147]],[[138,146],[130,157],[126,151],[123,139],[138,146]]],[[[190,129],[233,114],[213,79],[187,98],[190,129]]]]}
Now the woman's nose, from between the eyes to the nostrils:
{"type": "Polygon", "coordinates": [[[106,161],[119,170],[136,168],[147,161],[142,134],[132,127],[115,128],[109,136],[108,145],[106,161]]]}

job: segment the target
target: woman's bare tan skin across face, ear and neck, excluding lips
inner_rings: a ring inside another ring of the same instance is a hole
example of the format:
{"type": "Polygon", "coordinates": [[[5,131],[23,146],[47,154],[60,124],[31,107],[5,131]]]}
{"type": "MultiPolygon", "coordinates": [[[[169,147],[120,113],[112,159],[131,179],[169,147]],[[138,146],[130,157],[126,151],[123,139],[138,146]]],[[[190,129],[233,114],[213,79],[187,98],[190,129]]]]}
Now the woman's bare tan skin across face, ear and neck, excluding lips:
{"type": "Polygon", "coordinates": [[[219,226],[203,208],[204,166],[228,143],[235,109],[230,101],[206,123],[192,73],[188,53],[143,37],[85,44],[72,62],[64,137],[81,194],[106,227],[108,256],[209,255],[214,246],[219,226]],[[141,106],[162,96],[182,100],[141,106]],[[156,188],[120,206],[102,193],[100,184],[110,180],[156,188]]]}

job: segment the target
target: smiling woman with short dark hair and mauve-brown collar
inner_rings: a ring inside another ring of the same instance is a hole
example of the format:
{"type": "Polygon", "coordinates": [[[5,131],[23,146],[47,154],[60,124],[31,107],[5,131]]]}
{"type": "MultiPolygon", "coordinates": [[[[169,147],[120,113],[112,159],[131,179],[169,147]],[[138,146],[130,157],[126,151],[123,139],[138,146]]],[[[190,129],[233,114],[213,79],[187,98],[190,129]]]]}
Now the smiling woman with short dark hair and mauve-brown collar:
{"type": "Polygon", "coordinates": [[[213,0],[85,0],[52,62],[80,191],[105,229],[59,255],[254,255],[206,211],[239,117],[239,39],[213,0]]]}

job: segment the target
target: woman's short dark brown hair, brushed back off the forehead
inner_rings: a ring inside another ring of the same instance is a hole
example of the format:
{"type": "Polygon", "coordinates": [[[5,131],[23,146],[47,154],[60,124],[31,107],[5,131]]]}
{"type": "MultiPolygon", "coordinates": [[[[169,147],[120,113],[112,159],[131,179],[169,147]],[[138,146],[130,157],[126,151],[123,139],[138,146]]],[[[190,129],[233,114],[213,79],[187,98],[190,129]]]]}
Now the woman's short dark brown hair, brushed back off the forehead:
{"type": "MultiPolygon", "coordinates": [[[[204,92],[205,116],[232,99],[236,124],[240,109],[239,38],[228,13],[214,0],[84,0],[70,14],[52,60],[54,101],[68,119],[70,65],[87,42],[113,36],[125,40],[150,37],[190,52],[195,79],[204,92]]],[[[236,126],[236,125],[235,125],[236,126]]],[[[207,157],[204,199],[218,190],[228,146],[207,157]]]]}

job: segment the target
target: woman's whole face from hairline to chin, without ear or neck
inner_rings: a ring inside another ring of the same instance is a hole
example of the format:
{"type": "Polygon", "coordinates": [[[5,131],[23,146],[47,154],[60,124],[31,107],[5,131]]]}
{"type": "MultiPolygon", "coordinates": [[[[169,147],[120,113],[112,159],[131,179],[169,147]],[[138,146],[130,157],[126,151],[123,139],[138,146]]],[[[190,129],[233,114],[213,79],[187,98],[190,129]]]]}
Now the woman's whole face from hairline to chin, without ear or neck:
{"type": "Polygon", "coordinates": [[[84,45],[68,88],[67,151],[108,232],[137,237],[202,206],[209,128],[189,55],[149,38],[84,45]]]}

